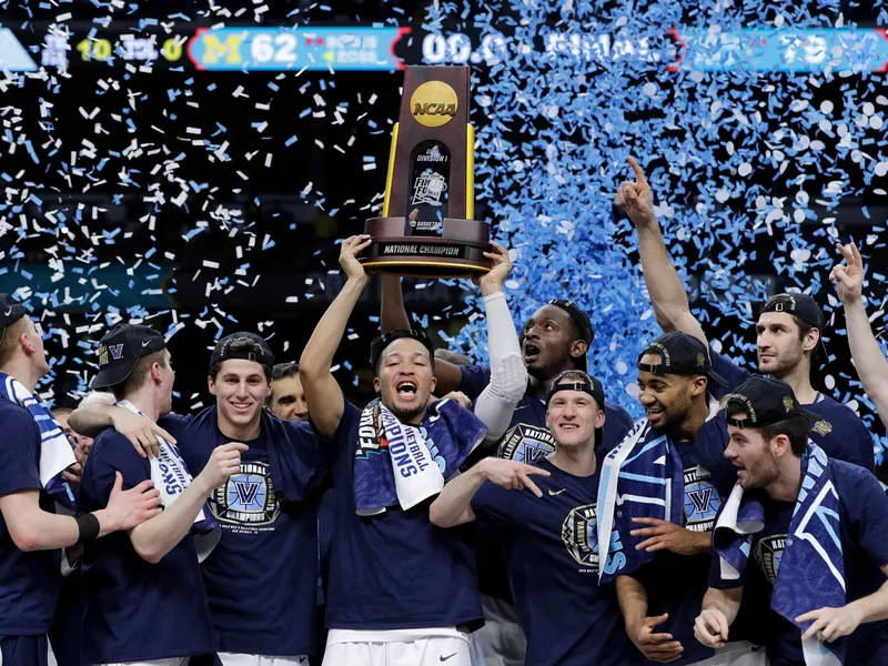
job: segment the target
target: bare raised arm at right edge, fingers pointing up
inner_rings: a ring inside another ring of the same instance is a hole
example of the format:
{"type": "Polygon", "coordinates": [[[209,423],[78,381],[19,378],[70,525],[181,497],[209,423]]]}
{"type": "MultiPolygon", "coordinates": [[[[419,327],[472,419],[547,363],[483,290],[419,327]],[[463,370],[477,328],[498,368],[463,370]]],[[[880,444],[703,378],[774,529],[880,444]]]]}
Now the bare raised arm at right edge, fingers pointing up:
{"type": "Polygon", "coordinates": [[[829,279],[836,282],[839,300],[845,305],[851,360],[881,422],[888,425],[888,361],[872,334],[864,306],[864,260],[855,243],[836,246],[845,258],[845,264],[836,265],[829,279]]]}

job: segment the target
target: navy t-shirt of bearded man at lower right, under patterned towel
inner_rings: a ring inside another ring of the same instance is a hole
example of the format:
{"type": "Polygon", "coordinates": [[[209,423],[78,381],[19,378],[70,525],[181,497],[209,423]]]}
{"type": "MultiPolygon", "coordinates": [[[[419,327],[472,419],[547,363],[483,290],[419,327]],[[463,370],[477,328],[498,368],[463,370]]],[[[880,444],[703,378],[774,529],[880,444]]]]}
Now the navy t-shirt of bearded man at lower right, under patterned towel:
{"type": "MultiPolygon", "coordinates": [[[[886,581],[880,567],[888,565],[888,497],[872,474],[844,461],[830,461],[833,481],[839,495],[840,539],[845,564],[846,603],[876,592],[886,581]]],[[[759,491],[765,507],[765,528],[755,535],[749,564],[739,581],[720,577],[718,558],[713,557],[709,585],[744,587],[758,602],[763,622],[757,638],[768,650],[771,666],[805,666],[801,632],[770,609],[770,595],[780,572],[794,502],[775,502],[759,491]],[[764,594],[763,594],[764,592],[764,594]]],[[[814,609],[814,608],[813,608],[814,609]]],[[[816,638],[811,638],[816,640],[816,638]]],[[[861,624],[848,638],[845,663],[854,666],[888,664],[888,620],[861,624]]]]}

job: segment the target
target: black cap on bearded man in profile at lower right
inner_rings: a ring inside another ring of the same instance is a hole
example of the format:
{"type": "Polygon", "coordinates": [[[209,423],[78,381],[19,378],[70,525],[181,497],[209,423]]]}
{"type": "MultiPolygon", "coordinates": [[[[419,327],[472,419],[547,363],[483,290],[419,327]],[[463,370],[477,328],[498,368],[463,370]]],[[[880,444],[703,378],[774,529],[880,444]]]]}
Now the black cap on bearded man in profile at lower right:
{"type": "Polygon", "coordinates": [[[753,375],[733,393],[728,393],[723,404],[727,422],[737,427],[761,427],[799,415],[820,421],[820,416],[799,404],[789,384],[773,377],[753,375]],[[730,417],[738,412],[745,414],[746,418],[730,417]]]}

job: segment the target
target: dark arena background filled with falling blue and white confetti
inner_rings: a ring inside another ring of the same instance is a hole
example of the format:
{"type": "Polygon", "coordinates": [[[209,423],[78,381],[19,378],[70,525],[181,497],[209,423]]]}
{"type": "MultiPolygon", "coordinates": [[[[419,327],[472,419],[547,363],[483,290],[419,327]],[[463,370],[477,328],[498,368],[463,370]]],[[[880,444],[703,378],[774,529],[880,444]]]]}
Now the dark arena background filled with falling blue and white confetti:
{"type": "MultiPolygon", "coordinates": [[[[255,331],[297,360],[379,215],[404,64],[467,64],[475,216],[512,250],[521,323],[576,300],[591,369],[635,416],[656,325],[614,193],[635,157],[716,349],[755,366],[758,305],[809,291],[815,387],[875,418],[828,280],[857,241],[879,333],[888,270],[882,0],[0,2],[0,291],[47,336],[44,397],[71,406],[119,321],[169,339],[174,410],[210,402],[210,350],[255,331]]],[[[442,346],[483,360],[467,281],[410,280],[442,346]]],[[[337,377],[363,404],[374,282],[337,377]]],[[[881,336],[880,336],[881,337],[881,336]]]]}

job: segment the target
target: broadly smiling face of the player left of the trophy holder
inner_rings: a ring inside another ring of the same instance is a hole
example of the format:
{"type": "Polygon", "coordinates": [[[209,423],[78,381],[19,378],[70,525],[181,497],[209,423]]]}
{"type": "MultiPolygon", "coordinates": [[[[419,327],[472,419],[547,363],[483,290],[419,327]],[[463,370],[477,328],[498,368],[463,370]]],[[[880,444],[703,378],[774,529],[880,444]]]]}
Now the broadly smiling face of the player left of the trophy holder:
{"type": "Polygon", "coordinates": [[[245,359],[222,362],[219,372],[208,379],[210,393],[215,395],[219,420],[234,428],[259,423],[262,405],[271,393],[271,385],[260,363],[245,359]]]}

